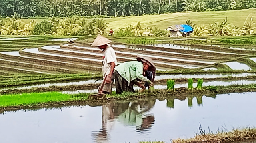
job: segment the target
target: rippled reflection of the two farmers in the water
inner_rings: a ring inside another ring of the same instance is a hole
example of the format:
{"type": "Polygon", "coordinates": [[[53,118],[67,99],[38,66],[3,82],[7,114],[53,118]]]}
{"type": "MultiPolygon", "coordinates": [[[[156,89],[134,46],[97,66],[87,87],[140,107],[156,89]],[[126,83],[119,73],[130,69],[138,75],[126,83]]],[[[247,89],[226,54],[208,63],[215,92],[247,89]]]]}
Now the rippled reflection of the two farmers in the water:
{"type": "Polygon", "coordinates": [[[96,143],[110,142],[110,131],[115,122],[124,126],[136,127],[136,132],[145,133],[154,125],[154,114],[148,114],[156,103],[152,100],[138,100],[133,102],[110,102],[102,106],[102,129],[92,131],[92,138],[96,143]]]}

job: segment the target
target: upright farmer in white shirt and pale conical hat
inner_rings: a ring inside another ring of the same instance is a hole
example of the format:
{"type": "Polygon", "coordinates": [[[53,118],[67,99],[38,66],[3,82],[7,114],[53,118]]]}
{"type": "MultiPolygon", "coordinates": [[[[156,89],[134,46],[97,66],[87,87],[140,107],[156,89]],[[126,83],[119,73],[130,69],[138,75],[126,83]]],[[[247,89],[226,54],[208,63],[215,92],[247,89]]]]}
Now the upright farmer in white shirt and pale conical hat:
{"type": "Polygon", "coordinates": [[[105,94],[112,93],[112,84],[114,81],[114,68],[117,65],[116,61],[116,54],[112,47],[108,46],[107,44],[111,43],[112,41],[108,40],[107,38],[98,35],[94,42],[92,43],[92,47],[98,47],[102,49],[102,74],[103,74],[103,81],[99,87],[99,93],[94,94],[93,96],[102,96],[105,94]]]}

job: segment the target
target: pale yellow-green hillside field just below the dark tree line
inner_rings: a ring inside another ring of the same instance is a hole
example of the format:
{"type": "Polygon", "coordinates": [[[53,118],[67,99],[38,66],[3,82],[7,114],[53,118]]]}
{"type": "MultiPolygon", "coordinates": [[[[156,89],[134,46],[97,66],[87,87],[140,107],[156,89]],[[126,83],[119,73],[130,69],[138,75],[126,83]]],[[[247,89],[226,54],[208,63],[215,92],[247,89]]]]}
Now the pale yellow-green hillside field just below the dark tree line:
{"type": "MultiPolygon", "coordinates": [[[[144,15],[144,16],[128,16],[128,17],[116,17],[105,18],[108,22],[108,29],[112,28],[118,30],[118,28],[124,28],[130,24],[134,25],[141,22],[143,26],[154,27],[157,26],[164,30],[170,25],[185,24],[185,21],[190,19],[195,24],[208,24],[213,22],[221,22],[226,17],[228,22],[236,26],[243,26],[248,15],[253,16],[253,22],[256,22],[256,8],[244,9],[244,10],[230,10],[230,11],[218,11],[218,12],[184,12],[184,13],[172,13],[172,14],[160,14],[160,15],[144,15]]],[[[250,16],[247,21],[250,21],[250,16]]],[[[29,22],[31,19],[24,19],[25,22],[29,22]]],[[[36,19],[36,22],[41,22],[44,19],[36,19]]]]}

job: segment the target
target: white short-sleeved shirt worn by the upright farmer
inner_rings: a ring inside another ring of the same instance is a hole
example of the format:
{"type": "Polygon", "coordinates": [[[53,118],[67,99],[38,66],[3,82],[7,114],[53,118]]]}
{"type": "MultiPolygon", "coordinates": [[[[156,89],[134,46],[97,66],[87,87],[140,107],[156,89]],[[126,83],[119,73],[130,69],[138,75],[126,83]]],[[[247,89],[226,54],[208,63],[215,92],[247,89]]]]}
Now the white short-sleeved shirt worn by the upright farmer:
{"type": "Polygon", "coordinates": [[[117,60],[116,60],[116,53],[114,49],[110,46],[107,46],[107,48],[102,52],[102,54],[103,54],[102,74],[103,74],[103,77],[105,77],[110,73],[110,70],[111,70],[110,63],[115,62],[115,65],[117,65],[117,60]]]}

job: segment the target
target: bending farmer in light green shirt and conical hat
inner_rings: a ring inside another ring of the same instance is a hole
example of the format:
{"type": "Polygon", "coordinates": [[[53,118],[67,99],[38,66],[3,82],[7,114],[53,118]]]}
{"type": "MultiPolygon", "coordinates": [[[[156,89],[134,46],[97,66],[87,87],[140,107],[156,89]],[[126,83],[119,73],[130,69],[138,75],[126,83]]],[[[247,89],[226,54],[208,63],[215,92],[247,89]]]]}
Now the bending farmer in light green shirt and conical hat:
{"type": "Polygon", "coordinates": [[[154,69],[155,65],[152,59],[144,56],[138,56],[137,61],[124,62],[118,65],[114,72],[116,94],[124,91],[134,92],[134,84],[142,88],[140,92],[146,89],[145,86],[152,87],[155,76],[154,69]],[[142,85],[141,81],[146,81],[146,84],[142,85]]]}

